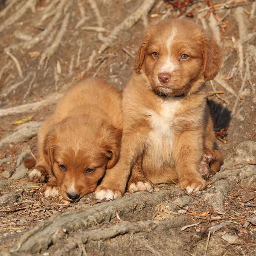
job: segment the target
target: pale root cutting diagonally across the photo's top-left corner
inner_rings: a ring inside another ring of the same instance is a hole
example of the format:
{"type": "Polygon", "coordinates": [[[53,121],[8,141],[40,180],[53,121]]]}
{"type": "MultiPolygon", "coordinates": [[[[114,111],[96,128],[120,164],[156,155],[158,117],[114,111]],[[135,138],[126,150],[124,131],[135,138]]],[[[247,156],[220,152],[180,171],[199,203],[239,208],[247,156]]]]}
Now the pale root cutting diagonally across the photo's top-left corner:
{"type": "Polygon", "coordinates": [[[10,26],[13,23],[15,23],[15,21],[19,20],[20,17],[22,17],[29,8],[33,9],[32,6],[34,6],[34,8],[35,8],[35,5],[36,5],[37,2],[38,2],[38,0],[28,0],[28,1],[25,1],[25,3],[22,4],[20,9],[17,9],[17,12],[15,12],[11,17],[6,19],[2,23],[2,25],[0,25],[0,32],[2,32],[8,26],[10,26]]]}

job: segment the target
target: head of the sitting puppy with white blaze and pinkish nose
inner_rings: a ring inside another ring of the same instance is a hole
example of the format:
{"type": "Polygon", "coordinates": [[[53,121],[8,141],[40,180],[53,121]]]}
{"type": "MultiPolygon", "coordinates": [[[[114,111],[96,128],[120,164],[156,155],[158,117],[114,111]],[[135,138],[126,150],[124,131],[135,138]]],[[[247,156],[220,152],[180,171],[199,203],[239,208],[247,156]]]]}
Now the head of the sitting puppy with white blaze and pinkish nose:
{"type": "Polygon", "coordinates": [[[157,93],[177,96],[199,90],[221,66],[222,52],[209,32],[188,20],[151,26],[135,59],[134,70],[146,76],[157,93]]]}

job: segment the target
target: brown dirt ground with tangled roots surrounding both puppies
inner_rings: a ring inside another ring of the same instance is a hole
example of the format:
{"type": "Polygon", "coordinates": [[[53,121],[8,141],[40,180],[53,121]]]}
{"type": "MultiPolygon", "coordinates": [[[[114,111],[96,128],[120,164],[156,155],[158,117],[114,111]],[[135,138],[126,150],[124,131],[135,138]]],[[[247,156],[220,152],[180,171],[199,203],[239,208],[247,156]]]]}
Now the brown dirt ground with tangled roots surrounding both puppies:
{"type": "Polygon", "coordinates": [[[0,0],[0,255],[256,255],[256,1],[209,9],[223,2],[0,0]],[[159,185],[111,202],[44,198],[22,164],[38,127],[83,77],[122,89],[145,26],[170,18],[195,20],[224,49],[207,82],[220,172],[192,195],[159,185]]]}

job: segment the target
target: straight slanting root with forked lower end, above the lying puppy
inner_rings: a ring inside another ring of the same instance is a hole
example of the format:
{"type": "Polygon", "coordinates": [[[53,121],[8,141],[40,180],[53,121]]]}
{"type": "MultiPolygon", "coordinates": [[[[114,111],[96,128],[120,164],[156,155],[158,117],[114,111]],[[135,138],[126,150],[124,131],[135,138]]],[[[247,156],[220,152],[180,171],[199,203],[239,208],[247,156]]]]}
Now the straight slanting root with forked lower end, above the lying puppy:
{"type": "Polygon", "coordinates": [[[58,35],[55,38],[55,41],[52,43],[51,46],[47,47],[41,55],[41,59],[39,61],[38,69],[43,65],[44,61],[46,60],[46,64],[44,69],[46,69],[49,58],[55,53],[56,49],[58,49],[59,45],[61,44],[62,37],[67,31],[67,25],[70,18],[70,14],[67,13],[64,17],[64,20],[61,23],[61,29],[58,32],[58,35]]]}

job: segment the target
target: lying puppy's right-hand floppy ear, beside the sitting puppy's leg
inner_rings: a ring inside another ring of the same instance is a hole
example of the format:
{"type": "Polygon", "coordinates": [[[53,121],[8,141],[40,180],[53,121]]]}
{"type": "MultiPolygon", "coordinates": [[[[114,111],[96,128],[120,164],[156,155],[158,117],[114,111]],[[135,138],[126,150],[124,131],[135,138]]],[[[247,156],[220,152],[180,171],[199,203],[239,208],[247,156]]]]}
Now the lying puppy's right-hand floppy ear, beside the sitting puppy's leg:
{"type": "Polygon", "coordinates": [[[121,148],[122,129],[115,128],[112,124],[103,125],[103,147],[105,148],[105,154],[109,158],[107,169],[111,169],[115,166],[121,148]]]}

